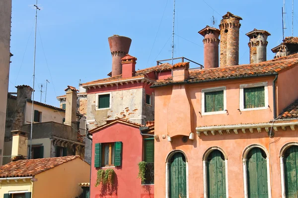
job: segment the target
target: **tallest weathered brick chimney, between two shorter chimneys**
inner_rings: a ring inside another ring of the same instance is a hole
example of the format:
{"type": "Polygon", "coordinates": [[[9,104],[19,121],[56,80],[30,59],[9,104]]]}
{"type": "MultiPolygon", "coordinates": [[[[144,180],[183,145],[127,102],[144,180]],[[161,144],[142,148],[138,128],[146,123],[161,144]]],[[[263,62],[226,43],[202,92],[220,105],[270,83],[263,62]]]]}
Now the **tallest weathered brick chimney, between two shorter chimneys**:
{"type": "Polygon", "coordinates": [[[227,12],[221,20],[220,66],[233,66],[239,63],[240,16],[227,12]]]}

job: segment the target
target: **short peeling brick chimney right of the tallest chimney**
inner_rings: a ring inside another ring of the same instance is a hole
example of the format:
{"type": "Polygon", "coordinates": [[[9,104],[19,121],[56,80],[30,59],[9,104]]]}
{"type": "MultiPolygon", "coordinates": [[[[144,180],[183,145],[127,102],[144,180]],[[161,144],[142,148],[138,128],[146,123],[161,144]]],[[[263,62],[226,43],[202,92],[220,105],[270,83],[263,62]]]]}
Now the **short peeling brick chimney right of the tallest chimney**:
{"type": "Polygon", "coordinates": [[[246,34],[249,37],[248,47],[250,64],[267,60],[267,37],[271,34],[265,30],[257,30],[246,34]]]}

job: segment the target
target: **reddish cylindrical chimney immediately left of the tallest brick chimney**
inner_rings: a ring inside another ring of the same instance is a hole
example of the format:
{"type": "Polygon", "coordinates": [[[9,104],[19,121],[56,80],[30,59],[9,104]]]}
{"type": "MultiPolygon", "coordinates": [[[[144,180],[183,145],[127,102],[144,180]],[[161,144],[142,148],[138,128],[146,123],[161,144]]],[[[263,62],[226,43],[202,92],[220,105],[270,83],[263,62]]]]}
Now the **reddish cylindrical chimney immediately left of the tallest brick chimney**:
{"type": "Polygon", "coordinates": [[[220,30],[207,25],[198,33],[204,37],[204,68],[219,67],[220,30]]]}

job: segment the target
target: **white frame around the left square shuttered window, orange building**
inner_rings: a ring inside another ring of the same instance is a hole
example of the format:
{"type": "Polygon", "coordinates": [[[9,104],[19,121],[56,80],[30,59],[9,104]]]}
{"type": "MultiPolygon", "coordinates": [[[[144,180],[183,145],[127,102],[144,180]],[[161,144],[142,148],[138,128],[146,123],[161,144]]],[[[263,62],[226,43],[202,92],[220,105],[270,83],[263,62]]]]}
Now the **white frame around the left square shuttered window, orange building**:
{"type": "Polygon", "coordinates": [[[209,92],[218,92],[218,91],[224,91],[224,110],[226,109],[226,87],[213,87],[213,88],[206,88],[201,90],[202,99],[201,99],[201,106],[202,106],[202,115],[214,115],[214,114],[224,114],[226,113],[223,111],[212,111],[212,112],[205,112],[205,93],[209,92]]]}

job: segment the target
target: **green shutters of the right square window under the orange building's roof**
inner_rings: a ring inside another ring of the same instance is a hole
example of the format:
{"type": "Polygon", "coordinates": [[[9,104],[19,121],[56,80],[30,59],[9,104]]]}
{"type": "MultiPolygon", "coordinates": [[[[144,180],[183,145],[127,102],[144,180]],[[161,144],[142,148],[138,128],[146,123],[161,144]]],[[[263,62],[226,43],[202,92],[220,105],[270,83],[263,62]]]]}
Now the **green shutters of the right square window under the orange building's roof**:
{"type": "Polygon", "coordinates": [[[252,87],[243,89],[244,108],[257,108],[265,106],[265,87],[252,87]]]}

